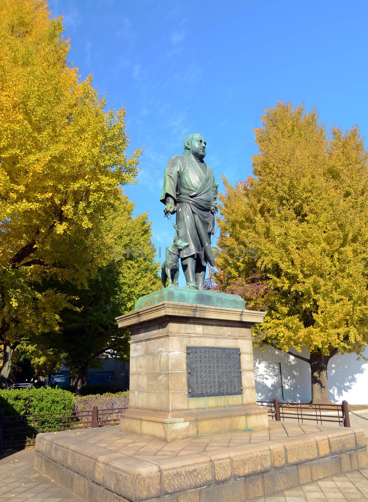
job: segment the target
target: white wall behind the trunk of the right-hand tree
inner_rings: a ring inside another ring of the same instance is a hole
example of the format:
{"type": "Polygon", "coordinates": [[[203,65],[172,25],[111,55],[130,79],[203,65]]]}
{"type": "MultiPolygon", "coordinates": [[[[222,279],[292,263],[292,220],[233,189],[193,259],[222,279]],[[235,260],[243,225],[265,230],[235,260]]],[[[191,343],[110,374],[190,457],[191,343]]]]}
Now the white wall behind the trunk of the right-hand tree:
{"type": "MultiPolygon", "coordinates": [[[[306,349],[301,355],[309,357],[306,349]]],[[[368,357],[368,347],[364,355],[368,357]]],[[[280,375],[275,373],[281,367],[284,401],[311,401],[311,371],[307,362],[268,345],[265,352],[256,347],[253,358],[257,400],[273,400],[278,394],[280,375]],[[280,366],[275,362],[280,363],[280,366]]],[[[356,361],[356,354],[335,355],[328,363],[327,370],[333,403],[341,403],[345,399],[350,404],[368,404],[368,362],[363,359],[356,361]]]]}

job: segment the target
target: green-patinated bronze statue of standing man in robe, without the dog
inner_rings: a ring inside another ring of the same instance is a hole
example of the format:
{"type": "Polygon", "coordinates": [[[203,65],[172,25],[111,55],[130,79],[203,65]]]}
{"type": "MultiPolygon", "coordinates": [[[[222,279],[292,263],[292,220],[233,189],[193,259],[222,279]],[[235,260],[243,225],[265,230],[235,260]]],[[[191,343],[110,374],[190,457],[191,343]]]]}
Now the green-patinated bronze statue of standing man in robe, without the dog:
{"type": "Polygon", "coordinates": [[[203,160],[205,155],[203,136],[188,136],[183,155],[172,157],[167,164],[160,198],[165,214],[176,212],[178,238],[189,243],[180,253],[186,288],[204,289],[207,262],[215,265],[211,234],[215,231],[218,184],[203,160]]]}

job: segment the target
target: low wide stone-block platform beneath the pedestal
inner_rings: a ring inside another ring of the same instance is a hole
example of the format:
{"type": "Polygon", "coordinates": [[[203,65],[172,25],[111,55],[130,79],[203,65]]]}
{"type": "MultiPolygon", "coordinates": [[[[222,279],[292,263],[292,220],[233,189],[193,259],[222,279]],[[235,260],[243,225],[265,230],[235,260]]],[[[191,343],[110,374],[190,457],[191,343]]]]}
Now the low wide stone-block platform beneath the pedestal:
{"type": "Polygon", "coordinates": [[[366,465],[363,431],[291,422],[171,442],[119,426],[46,433],[35,454],[90,502],[243,502],[366,465]]]}

